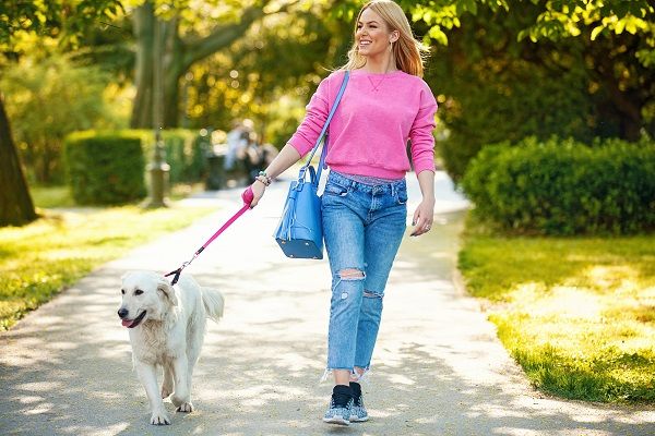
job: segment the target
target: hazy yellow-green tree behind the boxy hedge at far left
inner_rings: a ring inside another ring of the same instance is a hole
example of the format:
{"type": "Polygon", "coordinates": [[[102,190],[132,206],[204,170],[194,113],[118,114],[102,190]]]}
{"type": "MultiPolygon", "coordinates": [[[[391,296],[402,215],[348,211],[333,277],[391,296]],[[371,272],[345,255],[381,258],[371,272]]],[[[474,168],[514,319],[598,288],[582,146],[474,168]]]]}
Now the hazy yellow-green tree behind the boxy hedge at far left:
{"type": "Polygon", "coordinates": [[[103,93],[109,77],[69,56],[25,56],[0,78],[5,109],[29,180],[62,183],[61,148],[67,134],[112,125],[103,93]]]}

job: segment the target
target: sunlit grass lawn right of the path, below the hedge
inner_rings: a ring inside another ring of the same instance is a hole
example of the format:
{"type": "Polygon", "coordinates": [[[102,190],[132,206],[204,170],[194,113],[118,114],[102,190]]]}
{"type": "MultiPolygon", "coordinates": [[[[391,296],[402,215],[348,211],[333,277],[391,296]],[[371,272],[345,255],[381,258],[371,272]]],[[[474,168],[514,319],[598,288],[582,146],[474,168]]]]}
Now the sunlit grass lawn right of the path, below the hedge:
{"type": "Polygon", "coordinates": [[[655,235],[507,237],[469,217],[458,266],[538,389],[655,401],[655,235]]]}

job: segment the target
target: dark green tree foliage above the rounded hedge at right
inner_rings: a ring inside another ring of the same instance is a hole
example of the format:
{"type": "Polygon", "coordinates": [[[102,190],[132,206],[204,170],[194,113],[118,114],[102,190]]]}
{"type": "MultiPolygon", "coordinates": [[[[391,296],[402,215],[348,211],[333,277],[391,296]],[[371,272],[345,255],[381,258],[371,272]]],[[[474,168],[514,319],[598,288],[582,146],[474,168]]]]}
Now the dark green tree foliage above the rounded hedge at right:
{"type": "Polygon", "coordinates": [[[439,149],[456,181],[484,146],[501,141],[655,133],[655,70],[636,56],[645,37],[602,33],[592,41],[583,27],[580,37],[519,40],[543,10],[531,2],[480,8],[461,16],[448,47],[436,47],[426,80],[441,94],[449,135],[439,149]]]}

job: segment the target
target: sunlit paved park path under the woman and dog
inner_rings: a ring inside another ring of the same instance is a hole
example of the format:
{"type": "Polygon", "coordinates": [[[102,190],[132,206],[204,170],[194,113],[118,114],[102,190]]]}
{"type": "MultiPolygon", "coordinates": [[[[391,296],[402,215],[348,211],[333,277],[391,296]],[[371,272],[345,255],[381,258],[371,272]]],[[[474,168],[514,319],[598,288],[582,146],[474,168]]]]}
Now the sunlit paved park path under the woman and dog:
{"type": "Polygon", "coordinates": [[[116,316],[120,276],[187,259],[239,207],[240,190],[187,201],[223,207],[98,268],[0,335],[0,435],[655,435],[654,408],[562,401],[529,388],[478,303],[453,284],[465,202],[438,175],[438,226],[405,239],[390,278],[365,386],[370,422],[341,428],[320,420],[331,389],[319,384],[330,274],[325,262],[287,259],[275,245],[286,191],[278,183],[189,268],[227,300],[195,373],[195,412],[175,413],[167,402],[172,425],[147,424],[116,316]]]}

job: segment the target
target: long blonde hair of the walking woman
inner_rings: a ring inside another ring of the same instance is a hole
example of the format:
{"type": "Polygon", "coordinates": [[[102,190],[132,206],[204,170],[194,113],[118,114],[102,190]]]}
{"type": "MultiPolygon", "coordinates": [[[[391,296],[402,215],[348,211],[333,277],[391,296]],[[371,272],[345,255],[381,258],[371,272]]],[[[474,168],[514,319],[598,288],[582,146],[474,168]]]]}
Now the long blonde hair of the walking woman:
{"type": "MultiPolygon", "coordinates": [[[[367,9],[371,9],[382,17],[389,32],[396,31],[400,35],[398,39],[392,45],[393,58],[396,63],[395,66],[407,74],[422,77],[425,62],[424,53],[428,53],[429,49],[414,37],[412,27],[409,27],[409,22],[401,7],[391,0],[369,1],[357,14],[355,33],[357,33],[357,23],[364,11],[367,9]]],[[[365,64],[366,59],[359,55],[359,47],[355,40],[348,51],[348,62],[341,69],[355,70],[362,68],[365,64]]]]}

